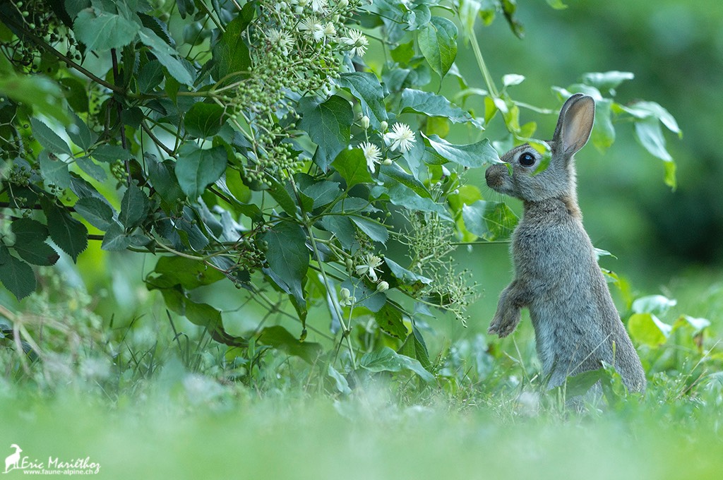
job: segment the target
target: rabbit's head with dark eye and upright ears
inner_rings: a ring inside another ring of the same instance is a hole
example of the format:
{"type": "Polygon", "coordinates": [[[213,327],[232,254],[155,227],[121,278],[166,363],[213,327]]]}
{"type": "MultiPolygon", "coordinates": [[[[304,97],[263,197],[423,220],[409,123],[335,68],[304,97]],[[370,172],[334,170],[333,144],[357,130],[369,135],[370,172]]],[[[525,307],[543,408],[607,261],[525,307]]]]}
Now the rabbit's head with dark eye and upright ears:
{"type": "Polygon", "coordinates": [[[485,172],[487,185],[497,192],[528,202],[550,198],[576,199],[576,176],[573,155],[590,138],[595,119],[595,101],[589,95],[576,93],[560,110],[560,119],[549,153],[540,153],[529,144],[520,145],[502,155],[502,161],[485,172]],[[547,156],[546,158],[546,155],[547,156]],[[549,163],[547,163],[549,159],[549,163]],[[545,166],[547,163],[547,166],[545,166]]]}

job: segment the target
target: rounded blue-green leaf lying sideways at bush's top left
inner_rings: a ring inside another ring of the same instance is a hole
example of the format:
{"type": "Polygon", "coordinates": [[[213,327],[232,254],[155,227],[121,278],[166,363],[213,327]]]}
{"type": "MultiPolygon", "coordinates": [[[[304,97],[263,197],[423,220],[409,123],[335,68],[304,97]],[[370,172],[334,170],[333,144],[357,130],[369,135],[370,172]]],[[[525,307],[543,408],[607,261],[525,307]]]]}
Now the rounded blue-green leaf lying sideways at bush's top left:
{"type": "Polygon", "coordinates": [[[96,8],[82,10],[73,22],[75,38],[93,51],[127,46],[139,30],[138,23],[96,8]]]}

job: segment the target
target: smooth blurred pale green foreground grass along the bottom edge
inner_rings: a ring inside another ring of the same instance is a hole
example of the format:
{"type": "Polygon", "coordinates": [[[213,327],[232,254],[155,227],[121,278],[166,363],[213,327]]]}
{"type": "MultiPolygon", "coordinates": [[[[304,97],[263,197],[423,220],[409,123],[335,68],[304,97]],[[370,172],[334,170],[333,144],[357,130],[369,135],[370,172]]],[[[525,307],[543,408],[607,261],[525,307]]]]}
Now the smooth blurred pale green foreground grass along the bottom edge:
{"type": "Polygon", "coordinates": [[[504,421],[489,408],[403,407],[382,393],[235,398],[215,408],[163,395],[110,410],[94,400],[6,398],[1,445],[16,443],[31,459],[89,456],[98,478],[114,479],[662,480],[723,471],[720,413],[686,419],[681,406],[504,421]]]}

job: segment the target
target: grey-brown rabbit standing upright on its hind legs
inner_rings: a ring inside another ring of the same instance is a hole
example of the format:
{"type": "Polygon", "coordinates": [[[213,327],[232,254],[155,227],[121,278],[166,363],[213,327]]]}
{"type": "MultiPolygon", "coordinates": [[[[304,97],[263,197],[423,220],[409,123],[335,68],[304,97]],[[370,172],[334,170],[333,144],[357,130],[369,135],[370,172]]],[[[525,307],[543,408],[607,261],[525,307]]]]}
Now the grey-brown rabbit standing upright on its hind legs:
{"type": "MultiPolygon", "coordinates": [[[[547,167],[539,168],[544,155],[525,144],[485,172],[490,188],[523,201],[523,218],[511,245],[515,278],[500,294],[488,333],[510,335],[520,322],[520,309],[527,307],[548,388],[563,385],[570,375],[599,369],[606,361],[615,366],[628,391],[644,393],[643,366],[615,309],[578,207],[573,155],[589,140],[594,118],[593,98],[572,95],[547,142],[547,167]]],[[[595,388],[601,393],[599,383],[595,388]]]]}

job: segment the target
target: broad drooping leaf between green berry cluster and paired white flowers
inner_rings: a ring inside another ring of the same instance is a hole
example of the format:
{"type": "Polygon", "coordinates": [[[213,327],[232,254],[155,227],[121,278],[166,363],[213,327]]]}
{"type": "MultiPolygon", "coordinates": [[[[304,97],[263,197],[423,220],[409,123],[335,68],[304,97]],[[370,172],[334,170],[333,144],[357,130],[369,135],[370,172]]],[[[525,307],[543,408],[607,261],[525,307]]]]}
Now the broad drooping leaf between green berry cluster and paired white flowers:
{"type": "Polygon", "coordinates": [[[302,98],[299,111],[304,117],[299,128],[309,133],[309,138],[317,144],[314,162],[327,171],[336,155],[349,144],[354,111],[347,100],[332,95],[319,103],[318,98],[302,98]]]}

